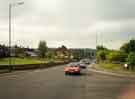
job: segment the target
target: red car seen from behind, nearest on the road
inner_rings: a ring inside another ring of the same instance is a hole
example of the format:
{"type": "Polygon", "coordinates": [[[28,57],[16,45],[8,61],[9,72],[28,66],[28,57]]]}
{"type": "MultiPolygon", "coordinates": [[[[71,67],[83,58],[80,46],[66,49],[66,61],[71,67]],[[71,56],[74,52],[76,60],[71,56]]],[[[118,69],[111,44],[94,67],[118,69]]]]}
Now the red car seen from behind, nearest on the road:
{"type": "Polygon", "coordinates": [[[64,68],[65,74],[80,74],[80,67],[77,64],[69,64],[67,67],[64,68]]]}

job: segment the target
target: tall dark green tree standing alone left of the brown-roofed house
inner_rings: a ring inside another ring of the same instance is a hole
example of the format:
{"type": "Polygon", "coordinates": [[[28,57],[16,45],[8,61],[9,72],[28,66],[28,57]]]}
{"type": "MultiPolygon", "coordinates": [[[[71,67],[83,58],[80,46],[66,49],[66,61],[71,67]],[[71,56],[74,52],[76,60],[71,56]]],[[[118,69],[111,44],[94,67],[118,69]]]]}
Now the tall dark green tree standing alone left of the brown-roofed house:
{"type": "Polygon", "coordinates": [[[41,58],[44,58],[46,56],[46,52],[47,52],[47,45],[46,45],[45,41],[39,42],[38,50],[39,50],[39,56],[41,58]]]}

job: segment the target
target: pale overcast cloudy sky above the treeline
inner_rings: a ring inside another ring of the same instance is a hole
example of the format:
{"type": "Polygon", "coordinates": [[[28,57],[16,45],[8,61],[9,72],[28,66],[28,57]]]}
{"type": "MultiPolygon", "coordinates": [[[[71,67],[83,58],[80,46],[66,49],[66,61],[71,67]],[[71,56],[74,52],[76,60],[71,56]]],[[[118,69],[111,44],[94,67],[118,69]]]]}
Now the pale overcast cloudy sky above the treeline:
{"type": "Polygon", "coordinates": [[[0,44],[8,45],[8,4],[20,1],[12,7],[13,45],[118,49],[135,37],[134,0],[0,0],[0,44]]]}

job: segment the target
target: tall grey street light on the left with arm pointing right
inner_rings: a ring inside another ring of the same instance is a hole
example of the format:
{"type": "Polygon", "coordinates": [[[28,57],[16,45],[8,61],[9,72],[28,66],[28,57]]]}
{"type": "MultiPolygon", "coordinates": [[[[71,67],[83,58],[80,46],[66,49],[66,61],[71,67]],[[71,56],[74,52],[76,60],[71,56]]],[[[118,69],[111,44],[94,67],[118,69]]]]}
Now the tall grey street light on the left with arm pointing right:
{"type": "Polygon", "coordinates": [[[12,17],[12,7],[22,5],[24,2],[17,2],[17,3],[9,3],[9,70],[12,71],[12,66],[11,66],[11,17],[12,17]]]}

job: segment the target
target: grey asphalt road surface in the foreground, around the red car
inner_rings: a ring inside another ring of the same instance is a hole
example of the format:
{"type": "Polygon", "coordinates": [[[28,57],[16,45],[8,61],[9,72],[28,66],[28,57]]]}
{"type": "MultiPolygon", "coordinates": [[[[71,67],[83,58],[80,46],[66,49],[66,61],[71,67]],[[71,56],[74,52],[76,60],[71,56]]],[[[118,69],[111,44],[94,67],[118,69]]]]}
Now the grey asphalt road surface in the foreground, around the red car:
{"type": "Polygon", "coordinates": [[[117,99],[133,79],[86,70],[66,76],[64,66],[0,76],[0,99],[117,99]]]}

